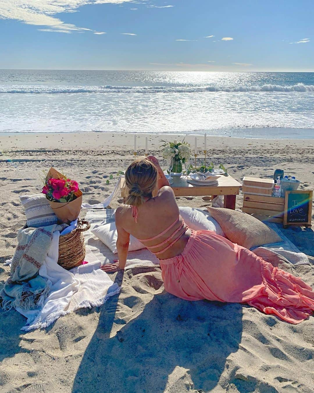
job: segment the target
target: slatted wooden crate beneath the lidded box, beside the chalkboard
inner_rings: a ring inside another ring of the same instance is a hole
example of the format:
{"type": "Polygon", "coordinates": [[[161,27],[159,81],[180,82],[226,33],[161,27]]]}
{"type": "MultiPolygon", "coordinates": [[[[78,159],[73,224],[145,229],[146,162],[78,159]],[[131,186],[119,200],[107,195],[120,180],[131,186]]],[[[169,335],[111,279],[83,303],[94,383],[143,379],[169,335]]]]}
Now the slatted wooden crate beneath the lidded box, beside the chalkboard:
{"type": "Polygon", "coordinates": [[[244,194],[242,211],[261,221],[283,222],[285,198],[244,194]]]}

